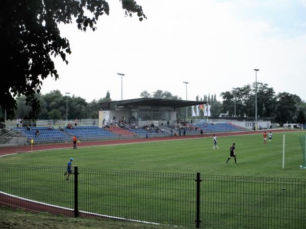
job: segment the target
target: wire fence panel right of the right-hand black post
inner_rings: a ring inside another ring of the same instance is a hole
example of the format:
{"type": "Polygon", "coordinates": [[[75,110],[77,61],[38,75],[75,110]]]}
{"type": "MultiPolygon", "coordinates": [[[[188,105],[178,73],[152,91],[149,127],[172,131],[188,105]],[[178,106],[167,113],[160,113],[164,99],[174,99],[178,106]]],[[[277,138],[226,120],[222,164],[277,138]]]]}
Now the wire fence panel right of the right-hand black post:
{"type": "Polygon", "coordinates": [[[306,180],[201,177],[201,226],[306,228],[306,180]]]}

